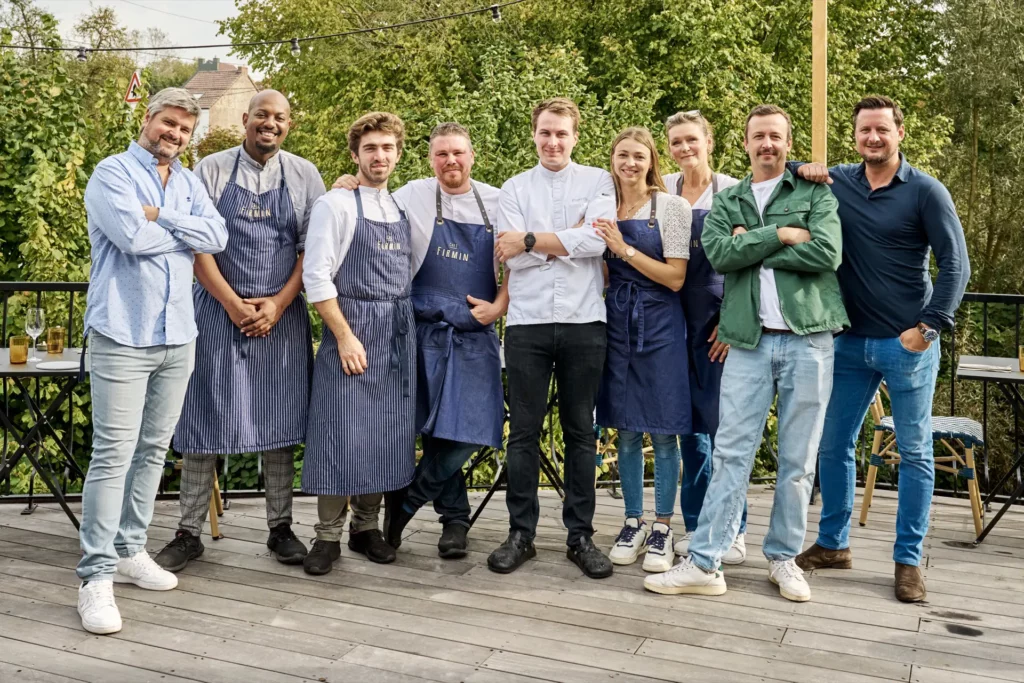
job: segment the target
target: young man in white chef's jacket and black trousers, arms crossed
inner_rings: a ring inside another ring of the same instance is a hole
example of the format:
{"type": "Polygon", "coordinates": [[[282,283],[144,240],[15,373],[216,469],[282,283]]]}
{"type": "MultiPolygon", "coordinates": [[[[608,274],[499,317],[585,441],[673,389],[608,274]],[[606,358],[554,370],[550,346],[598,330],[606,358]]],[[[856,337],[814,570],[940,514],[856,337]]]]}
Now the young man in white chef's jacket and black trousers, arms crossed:
{"type": "Polygon", "coordinates": [[[509,537],[487,558],[508,573],[537,555],[541,425],[552,370],[565,439],[568,558],[588,577],[611,574],[594,546],[594,407],[604,369],[602,257],[594,218],[615,218],[615,187],[600,168],[572,163],[580,139],[575,102],[555,97],[532,114],[540,163],[502,185],[496,249],[511,270],[505,332],[509,383],[509,537]],[[581,224],[582,223],[582,224],[581,224]]]}

